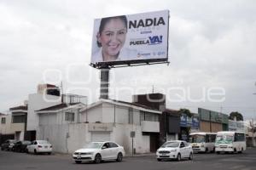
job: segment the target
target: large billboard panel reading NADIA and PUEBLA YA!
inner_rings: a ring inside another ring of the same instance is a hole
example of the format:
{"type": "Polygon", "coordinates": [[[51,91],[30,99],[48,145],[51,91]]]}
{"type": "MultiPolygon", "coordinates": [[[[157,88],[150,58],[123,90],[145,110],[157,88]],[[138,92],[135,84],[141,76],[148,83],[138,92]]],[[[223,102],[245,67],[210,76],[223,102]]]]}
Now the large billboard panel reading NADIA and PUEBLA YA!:
{"type": "Polygon", "coordinates": [[[96,19],[91,65],[167,61],[169,11],[96,19]]]}

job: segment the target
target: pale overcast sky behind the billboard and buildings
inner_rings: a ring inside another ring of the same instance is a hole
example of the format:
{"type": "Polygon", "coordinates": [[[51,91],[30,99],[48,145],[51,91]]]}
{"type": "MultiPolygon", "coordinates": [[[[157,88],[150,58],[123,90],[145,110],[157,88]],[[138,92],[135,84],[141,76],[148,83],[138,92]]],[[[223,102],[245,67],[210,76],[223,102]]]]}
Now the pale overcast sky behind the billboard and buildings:
{"type": "Polygon", "coordinates": [[[65,92],[96,101],[99,71],[89,66],[93,20],[163,9],[171,15],[170,65],[112,69],[110,98],[131,101],[154,85],[172,109],[204,107],[255,118],[253,0],[0,0],[0,111],[22,104],[44,82],[62,81],[65,92]],[[203,95],[211,88],[223,88],[224,101],[203,95]]]}

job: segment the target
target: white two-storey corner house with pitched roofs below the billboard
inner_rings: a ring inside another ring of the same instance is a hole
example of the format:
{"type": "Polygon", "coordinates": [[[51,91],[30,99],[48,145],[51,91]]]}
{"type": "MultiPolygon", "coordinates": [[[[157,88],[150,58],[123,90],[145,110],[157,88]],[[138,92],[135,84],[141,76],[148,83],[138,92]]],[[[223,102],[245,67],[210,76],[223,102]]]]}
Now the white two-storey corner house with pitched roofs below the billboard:
{"type": "Polygon", "coordinates": [[[113,140],[128,154],[132,146],[137,153],[158,147],[161,111],[111,99],[101,99],[82,109],[81,104],[59,106],[36,111],[37,138],[49,139],[55,151],[73,152],[87,142],[99,140],[113,140]]]}

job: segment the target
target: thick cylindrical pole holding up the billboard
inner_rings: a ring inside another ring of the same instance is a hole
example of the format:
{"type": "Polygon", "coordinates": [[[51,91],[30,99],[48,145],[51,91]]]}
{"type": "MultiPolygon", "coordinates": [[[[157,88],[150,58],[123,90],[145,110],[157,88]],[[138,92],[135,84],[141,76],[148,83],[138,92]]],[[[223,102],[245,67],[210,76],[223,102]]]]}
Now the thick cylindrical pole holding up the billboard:
{"type": "Polygon", "coordinates": [[[101,67],[101,95],[100,99],[108,99],[108,84],[109,84],[109,70],[108,65],[101,67]]]}

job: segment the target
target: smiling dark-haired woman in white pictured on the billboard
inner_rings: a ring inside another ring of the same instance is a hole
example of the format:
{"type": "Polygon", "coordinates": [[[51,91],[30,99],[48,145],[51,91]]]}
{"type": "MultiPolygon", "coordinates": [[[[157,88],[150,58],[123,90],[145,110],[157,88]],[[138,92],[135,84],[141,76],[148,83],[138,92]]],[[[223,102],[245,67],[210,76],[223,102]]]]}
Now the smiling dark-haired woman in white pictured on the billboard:
{"type": "Polygon", "coordinates": [[[123,48],[126,33],[127,19],[125,15],[103,18],[96,35],[97,46],[100,50],[92,58],[96,62],[108,62],[129,60],[136,56],[136,50],[123,48]]]}

